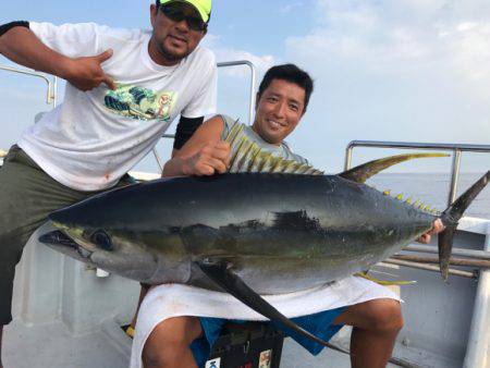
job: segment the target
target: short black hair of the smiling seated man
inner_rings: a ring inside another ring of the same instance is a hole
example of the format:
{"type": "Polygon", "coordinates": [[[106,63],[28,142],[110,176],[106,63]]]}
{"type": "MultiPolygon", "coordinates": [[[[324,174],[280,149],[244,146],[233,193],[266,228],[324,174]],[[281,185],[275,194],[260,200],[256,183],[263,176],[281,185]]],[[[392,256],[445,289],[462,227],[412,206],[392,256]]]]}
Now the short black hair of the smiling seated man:
{"type": "Polygon", "coordinates": [[[269,69],[264,76],[262,82],[260,82],[258,90],[258,99],[262,96],[264,91],[270,86],[273,79],[286,81],[294,83],[305,90],[305,109],[309,102],[309,97],[314,90],[314,82],[308,73],[304,70],[297,68],[295,64],[282,64],[275,65],[269,69]]]}

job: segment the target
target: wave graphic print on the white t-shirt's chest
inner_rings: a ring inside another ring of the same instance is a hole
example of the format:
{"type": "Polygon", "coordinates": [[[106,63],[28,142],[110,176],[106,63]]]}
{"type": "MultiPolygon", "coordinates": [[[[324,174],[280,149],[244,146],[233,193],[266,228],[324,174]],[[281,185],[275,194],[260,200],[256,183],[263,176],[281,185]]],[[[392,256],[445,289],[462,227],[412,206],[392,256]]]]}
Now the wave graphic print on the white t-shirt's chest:
{"type": "Polygon", "coordinates": [[[174,91],[118,85],[117,90],[109,90],[103,99],[105,106],[111,112],[135,120],[159,120],[168,122],[177,100],[174,91]]]}

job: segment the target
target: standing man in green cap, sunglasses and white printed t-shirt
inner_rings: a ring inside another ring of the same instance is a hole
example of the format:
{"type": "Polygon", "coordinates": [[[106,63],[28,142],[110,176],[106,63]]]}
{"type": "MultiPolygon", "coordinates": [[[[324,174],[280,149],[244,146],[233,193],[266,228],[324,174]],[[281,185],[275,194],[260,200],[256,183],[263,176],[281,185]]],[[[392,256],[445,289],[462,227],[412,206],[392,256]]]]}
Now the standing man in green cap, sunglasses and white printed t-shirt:
{"type": "Polygon", "coordinates": [[[126,172],[177,115],[175,149],[215,112],[215,57],[198,47],[210,15],[211,0],[157,0],[151,33],[0,25],[1,54],[68,82],[64,102],[23,133],[0,169],[0,347],[15,265],[47,214],[130,183],[126,172]]]}

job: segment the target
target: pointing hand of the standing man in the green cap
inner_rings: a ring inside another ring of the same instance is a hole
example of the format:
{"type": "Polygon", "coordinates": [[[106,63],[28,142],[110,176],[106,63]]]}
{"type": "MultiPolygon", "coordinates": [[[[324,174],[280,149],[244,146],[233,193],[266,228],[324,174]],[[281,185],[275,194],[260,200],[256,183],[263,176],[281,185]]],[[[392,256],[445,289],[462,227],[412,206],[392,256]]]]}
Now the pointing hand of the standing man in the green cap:
{"type": "Polygon", "coordinates": [[[101,68],[101,64],[111,57],[112,50],[109,49],[96,57],[72,59],[69,63],[66,75],[63,77],[83,91],[97,88],[102,83],[110,89],[115,89],[115,83],[101,68]]]}

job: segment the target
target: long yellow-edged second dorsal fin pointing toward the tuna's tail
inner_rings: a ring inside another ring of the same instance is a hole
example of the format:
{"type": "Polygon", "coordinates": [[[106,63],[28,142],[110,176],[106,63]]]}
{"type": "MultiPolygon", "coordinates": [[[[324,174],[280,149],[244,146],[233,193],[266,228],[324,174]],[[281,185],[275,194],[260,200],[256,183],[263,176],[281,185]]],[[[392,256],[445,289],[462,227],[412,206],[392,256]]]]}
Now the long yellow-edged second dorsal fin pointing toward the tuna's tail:
{"type": "Polygon", "coordinates": [[[369,177],[376,175],[380,171],[388,169],[396,163],[428,157],[449,157],[446,154],[408,154],[408,155],[395,155],[385,157],[379,160],[369,161],[351,170],[344,171],[339,176],[347,179],[353,182],[364,183],[369,177]]]}

